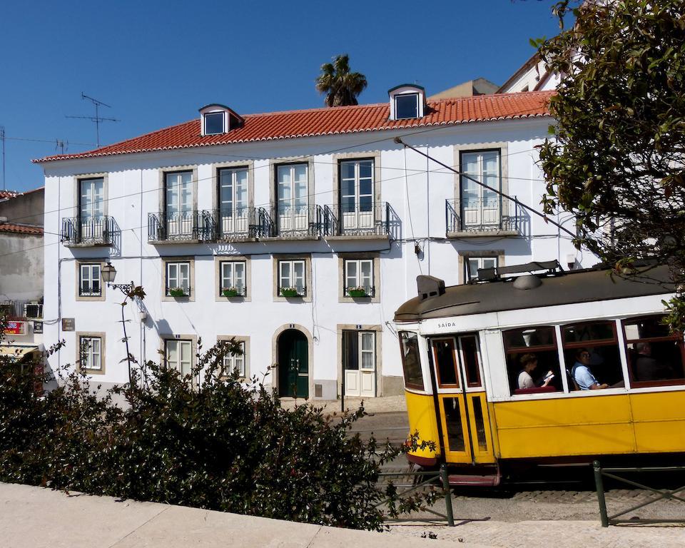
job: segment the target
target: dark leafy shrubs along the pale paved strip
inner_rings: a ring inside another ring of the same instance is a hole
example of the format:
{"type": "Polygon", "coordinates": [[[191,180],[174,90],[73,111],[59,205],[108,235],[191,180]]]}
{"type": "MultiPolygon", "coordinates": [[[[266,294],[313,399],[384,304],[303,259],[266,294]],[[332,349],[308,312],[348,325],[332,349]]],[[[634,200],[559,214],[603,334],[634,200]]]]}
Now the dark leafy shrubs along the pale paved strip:
{"type": "Polygon", "coordinates": [[[358,529],[382,528],[385,497],[392,515],[435,500],[378,487],[380,466],[407,447],[351,435],[363,410],[285,410],[223,370],[237,352],[220,342],[186,377],[148,362],[106,397],[73,367],[36,391],[34,367],[0,357],[0,481],[358,529]]]}

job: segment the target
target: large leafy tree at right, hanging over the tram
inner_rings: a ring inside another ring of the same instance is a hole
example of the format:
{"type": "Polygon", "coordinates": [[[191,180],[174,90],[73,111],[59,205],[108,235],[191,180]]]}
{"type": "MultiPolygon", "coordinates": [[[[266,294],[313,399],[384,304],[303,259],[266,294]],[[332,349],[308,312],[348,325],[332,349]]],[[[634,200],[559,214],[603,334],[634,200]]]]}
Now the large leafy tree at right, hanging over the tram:
{"type": "MultiPolygon", "coordinates": [[[[560,16],[571,8],[557,4],[560,16]]],[[[637,260],[685,282],[685,0],[587,1],[574,27],[540,48],[561,75],[557,125],[542,146],[547,212],[574,213],[578,245],[617,273],[637,260]]],[[[685,325],[671,303],[671,323],[685,325]]]]}

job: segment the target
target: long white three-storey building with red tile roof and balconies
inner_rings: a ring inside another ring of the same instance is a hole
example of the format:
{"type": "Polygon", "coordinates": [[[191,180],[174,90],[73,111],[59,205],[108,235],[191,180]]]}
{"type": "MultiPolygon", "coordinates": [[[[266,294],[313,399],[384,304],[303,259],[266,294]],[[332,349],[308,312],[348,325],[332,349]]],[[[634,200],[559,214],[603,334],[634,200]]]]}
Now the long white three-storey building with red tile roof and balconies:
{"type": "Polygon", "coordinates": [[[266,383],[282,395],[335,398],[343,382],[346,395],[400,393],[391,322],[417,275],[452,285],[478,267],[592,263],[522,206],[540,208],[548,97],[425,103],[405,85],[374,105],[249,116],[210,105],[178,126],[39,160],[45,338],[67,342],[51,365],[75,362],[88,342],[97,382],[126,382],[122,296],[100,282],[111,262],[118,283],[147,293],[144,314],[126,308],[138,360],[186,372],[200,338],[207,348],[235,337],[245,355],[232,365],[248,377],[276,365],[266,383]]]}

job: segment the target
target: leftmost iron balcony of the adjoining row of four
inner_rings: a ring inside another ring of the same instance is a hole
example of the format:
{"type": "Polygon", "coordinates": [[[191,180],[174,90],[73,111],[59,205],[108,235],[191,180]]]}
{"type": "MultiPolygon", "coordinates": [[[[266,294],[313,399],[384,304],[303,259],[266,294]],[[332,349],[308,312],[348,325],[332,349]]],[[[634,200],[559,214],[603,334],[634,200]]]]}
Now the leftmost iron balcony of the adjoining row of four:
{"type": "Polygon", "coordinates": [[[216,223],[210,211],[148,213],[148,242],[197,243],[216,239],[216,223]]]}

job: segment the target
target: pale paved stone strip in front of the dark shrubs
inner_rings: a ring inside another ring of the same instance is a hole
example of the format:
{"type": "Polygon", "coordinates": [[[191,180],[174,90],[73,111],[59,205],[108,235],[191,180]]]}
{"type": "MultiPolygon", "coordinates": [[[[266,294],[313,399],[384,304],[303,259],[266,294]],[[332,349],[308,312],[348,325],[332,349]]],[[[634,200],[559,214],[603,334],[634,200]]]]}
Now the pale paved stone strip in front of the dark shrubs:
{"type": "Polygon", "coordinates": [[[0,532],[3,548],[391,548],[405,542],[416,548],[454,547],[451,541],[6,483],[0,483],[0,532]]]}

